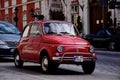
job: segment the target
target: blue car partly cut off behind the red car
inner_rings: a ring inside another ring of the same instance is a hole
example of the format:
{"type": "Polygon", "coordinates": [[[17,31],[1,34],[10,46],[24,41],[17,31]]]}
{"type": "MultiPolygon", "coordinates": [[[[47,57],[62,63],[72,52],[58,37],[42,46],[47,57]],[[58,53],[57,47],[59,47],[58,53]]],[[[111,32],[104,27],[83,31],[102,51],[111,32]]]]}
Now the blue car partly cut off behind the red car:
{"type": "Polygon", "coordinates": [[[0,21],[0,57],[13,56],[20,39],[20,31],[11,23],[0,21]]]}

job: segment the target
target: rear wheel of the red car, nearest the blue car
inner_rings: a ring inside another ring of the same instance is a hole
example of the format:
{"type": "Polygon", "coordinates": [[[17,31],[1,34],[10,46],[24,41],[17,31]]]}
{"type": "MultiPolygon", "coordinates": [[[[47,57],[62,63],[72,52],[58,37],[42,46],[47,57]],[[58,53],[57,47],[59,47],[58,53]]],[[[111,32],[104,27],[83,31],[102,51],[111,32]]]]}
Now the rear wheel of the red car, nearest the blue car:
{"type": "Polygon", "coordinates": [[[15,53],[15,56],[14,56],[14,64],[15,64],[15,67],[17,68],[21,68],[23,67],[23,61],[20,59],[20,56],[19,56],[19,53],[15,53]]]}

